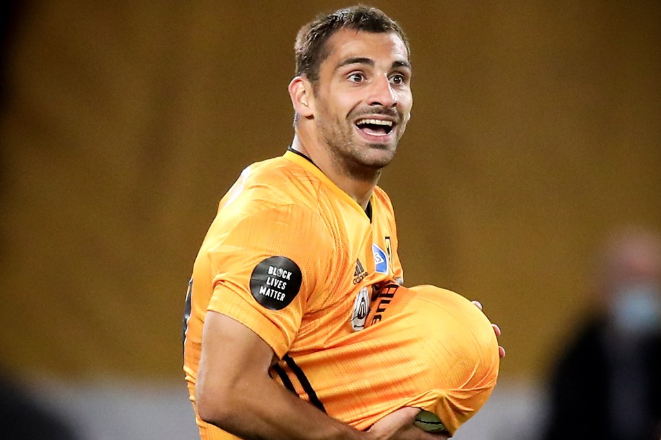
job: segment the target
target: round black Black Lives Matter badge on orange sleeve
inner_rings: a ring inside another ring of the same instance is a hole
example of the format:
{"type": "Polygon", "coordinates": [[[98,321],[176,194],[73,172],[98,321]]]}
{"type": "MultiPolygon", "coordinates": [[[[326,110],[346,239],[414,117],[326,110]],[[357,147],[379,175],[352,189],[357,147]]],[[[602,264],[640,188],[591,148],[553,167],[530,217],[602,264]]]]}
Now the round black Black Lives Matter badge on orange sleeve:
{"type": "Polygon", "coordinates": [[[271,256],[255,266],[250,276],[250,292],[266,309],[280,310],[296,298],[302,279],[296,263],[286,256],[271,256]]]}

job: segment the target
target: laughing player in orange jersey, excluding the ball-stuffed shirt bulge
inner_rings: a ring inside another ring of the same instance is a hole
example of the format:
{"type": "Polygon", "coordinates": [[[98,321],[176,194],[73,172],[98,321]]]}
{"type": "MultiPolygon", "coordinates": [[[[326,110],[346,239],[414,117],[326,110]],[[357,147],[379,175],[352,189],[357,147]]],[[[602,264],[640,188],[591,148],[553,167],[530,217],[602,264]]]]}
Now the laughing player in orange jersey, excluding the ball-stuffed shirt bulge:
{"type": "Polygon", "coordinates": [[[395,217],[377,181],[412,94],[406,36],[374,8],[319,17],[299,32],[295,54],[291,147],[243,171],[193,267],[185,372],[200,435],[447,438],[412,425],[419,408],[384,412],[367,432],[328,417],[297,364],[363,331],[372,298],[403,281],[395,217]]]}

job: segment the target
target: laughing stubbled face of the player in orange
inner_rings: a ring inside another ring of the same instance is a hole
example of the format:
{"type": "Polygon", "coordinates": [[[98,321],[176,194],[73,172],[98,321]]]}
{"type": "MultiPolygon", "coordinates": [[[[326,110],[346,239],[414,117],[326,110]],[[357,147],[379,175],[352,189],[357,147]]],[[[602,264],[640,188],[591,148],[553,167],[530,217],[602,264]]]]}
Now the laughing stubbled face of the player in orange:
{"type": "Polygon", "coordinates": [[[392,32],[348,29],[326,44],[314,92],[317,135],[346,173],[373,175],[390,163],[410,118],[406,45],[392,32]]]}

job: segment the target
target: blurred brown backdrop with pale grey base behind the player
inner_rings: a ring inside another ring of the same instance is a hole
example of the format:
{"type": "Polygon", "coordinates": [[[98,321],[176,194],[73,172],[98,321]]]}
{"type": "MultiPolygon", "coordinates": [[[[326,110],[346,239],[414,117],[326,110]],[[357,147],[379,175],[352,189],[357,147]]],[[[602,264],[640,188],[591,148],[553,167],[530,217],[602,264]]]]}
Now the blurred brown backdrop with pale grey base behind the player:
{"type": "MultiPolygon", "coordinates": [[[[1,367],[81,439],[194,439],[181,369],[218,201],[292,137],[293,40],[346,1],[3,3],[1,367]]],[[[381,179],[407,285],[479,299],[507,357],[457,439],[534,439],[596,255],[661,229],[661,3],[371,1],[415,104],[381,179]]]]}

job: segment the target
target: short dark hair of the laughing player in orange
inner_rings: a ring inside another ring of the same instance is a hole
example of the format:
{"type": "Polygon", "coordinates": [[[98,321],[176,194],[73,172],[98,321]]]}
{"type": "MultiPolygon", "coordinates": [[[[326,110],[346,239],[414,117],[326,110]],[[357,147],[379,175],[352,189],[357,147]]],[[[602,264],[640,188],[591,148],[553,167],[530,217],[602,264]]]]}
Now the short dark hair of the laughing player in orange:
{"type": "Polygon", "coordinates": [[[406,45],[408,57],[411,56],[408,39],[397,21],[377,8],[355,5],[330,14],[320,14],[298,31],[294,44],[296,76],[305,76],[312,83],[317,82],[319,66],[329,55],[326,42],[341,29],[374,33],[395,32],[406,45]]]}

